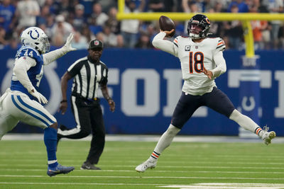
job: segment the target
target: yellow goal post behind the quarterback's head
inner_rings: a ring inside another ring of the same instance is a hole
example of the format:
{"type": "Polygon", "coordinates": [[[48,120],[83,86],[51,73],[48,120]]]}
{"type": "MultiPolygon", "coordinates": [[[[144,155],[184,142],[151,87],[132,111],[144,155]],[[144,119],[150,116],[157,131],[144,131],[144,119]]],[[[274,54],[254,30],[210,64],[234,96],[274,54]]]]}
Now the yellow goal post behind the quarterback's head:
{"type": "MultiPolygon", "coordinates": [[[[175,21],[189,20],[196,13],[124,13],[125,1],[118,1],[118,20],[137,19],[141,21],[158,21],[160,16],[168,16],[175,21]]],[[[284,21],[284,13],[203,13],[210,21],[241,21],[244,28],[244,40],[246,43],[246,57],[254,57],[253,32],[251,21],[284,21]]]]}

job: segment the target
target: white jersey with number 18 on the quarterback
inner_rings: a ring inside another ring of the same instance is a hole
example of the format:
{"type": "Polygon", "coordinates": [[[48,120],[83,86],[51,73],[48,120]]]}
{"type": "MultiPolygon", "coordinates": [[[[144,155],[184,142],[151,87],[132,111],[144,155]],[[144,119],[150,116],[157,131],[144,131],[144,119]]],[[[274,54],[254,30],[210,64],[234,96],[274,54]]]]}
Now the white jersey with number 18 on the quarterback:
{"type": "Polygon", "coordinates": [[[191,38],[178,36],[173,44],[175,56],[180,59],[182,79],[185,80],[182,91],[191,95],[211,92],[216,86],[214,79],[209,79],[201,70],[216,67],[213,57],[225,49],[224,41],[221,38],[205,38],[202,42],[193,42],[191,38]]]}

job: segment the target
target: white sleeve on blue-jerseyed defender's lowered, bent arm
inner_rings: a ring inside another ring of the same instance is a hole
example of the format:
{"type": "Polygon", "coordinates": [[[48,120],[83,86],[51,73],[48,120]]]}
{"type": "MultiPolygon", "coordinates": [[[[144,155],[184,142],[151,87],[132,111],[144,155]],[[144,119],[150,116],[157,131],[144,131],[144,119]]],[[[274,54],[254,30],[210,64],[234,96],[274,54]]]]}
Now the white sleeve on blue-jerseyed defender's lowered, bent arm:
{"type": "Polygon", "coordinates": [[[18,81],[20,81],[20,83],[28,89],[28,92],[33,89],[33,84],[31,84],[30,79],[28,79],[27,71],[35,65],[35,59],[30,57],[21,57],[16,59],[15,66],[13,67],[13,73],[16,75],[18,81]]]}

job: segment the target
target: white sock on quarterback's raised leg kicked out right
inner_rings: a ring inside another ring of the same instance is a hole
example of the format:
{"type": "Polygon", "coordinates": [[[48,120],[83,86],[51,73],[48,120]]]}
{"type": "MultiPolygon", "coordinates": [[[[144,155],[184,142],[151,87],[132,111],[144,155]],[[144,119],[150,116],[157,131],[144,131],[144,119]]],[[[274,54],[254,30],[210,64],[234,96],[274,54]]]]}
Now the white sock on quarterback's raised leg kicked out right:
{"type": "Polygon", "coordinates": [[[233,113],[231,113],[229,119],[237,122],[245,130],[249,130],[257,134],[259,137],[262,137],[263,130],[261,129],[261,127],[259,127],[256,122],[251,120],[251,118],[249,118],[248,116],[241,114],[238,110],[234,110],[233,113]]]}

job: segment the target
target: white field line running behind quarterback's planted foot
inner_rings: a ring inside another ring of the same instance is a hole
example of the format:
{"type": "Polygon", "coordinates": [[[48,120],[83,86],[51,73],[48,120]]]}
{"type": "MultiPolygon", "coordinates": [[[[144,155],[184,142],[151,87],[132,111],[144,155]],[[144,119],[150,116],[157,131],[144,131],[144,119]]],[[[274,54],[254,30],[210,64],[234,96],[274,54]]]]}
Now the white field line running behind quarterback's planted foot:
{"type": "MultiPolygon", "coordinates": [[[[0,168],[1,171],[46,171],[46,169],[23,169],[23,168],[0,168]]],[[[76,170],[76,171],[86,171],[89,172],[89,170],[76,170]]],[[[134,170],[99,170],[96,171],[96,173],[99,172],[135,172],[134,170]]],[[[158,173],[253,173],[253,174],[284,174],[284,172],[269,172],[269,171],[157,171],[158,173]]],[[[1,175],[0,175],[1,176],[1,175]]]]}

